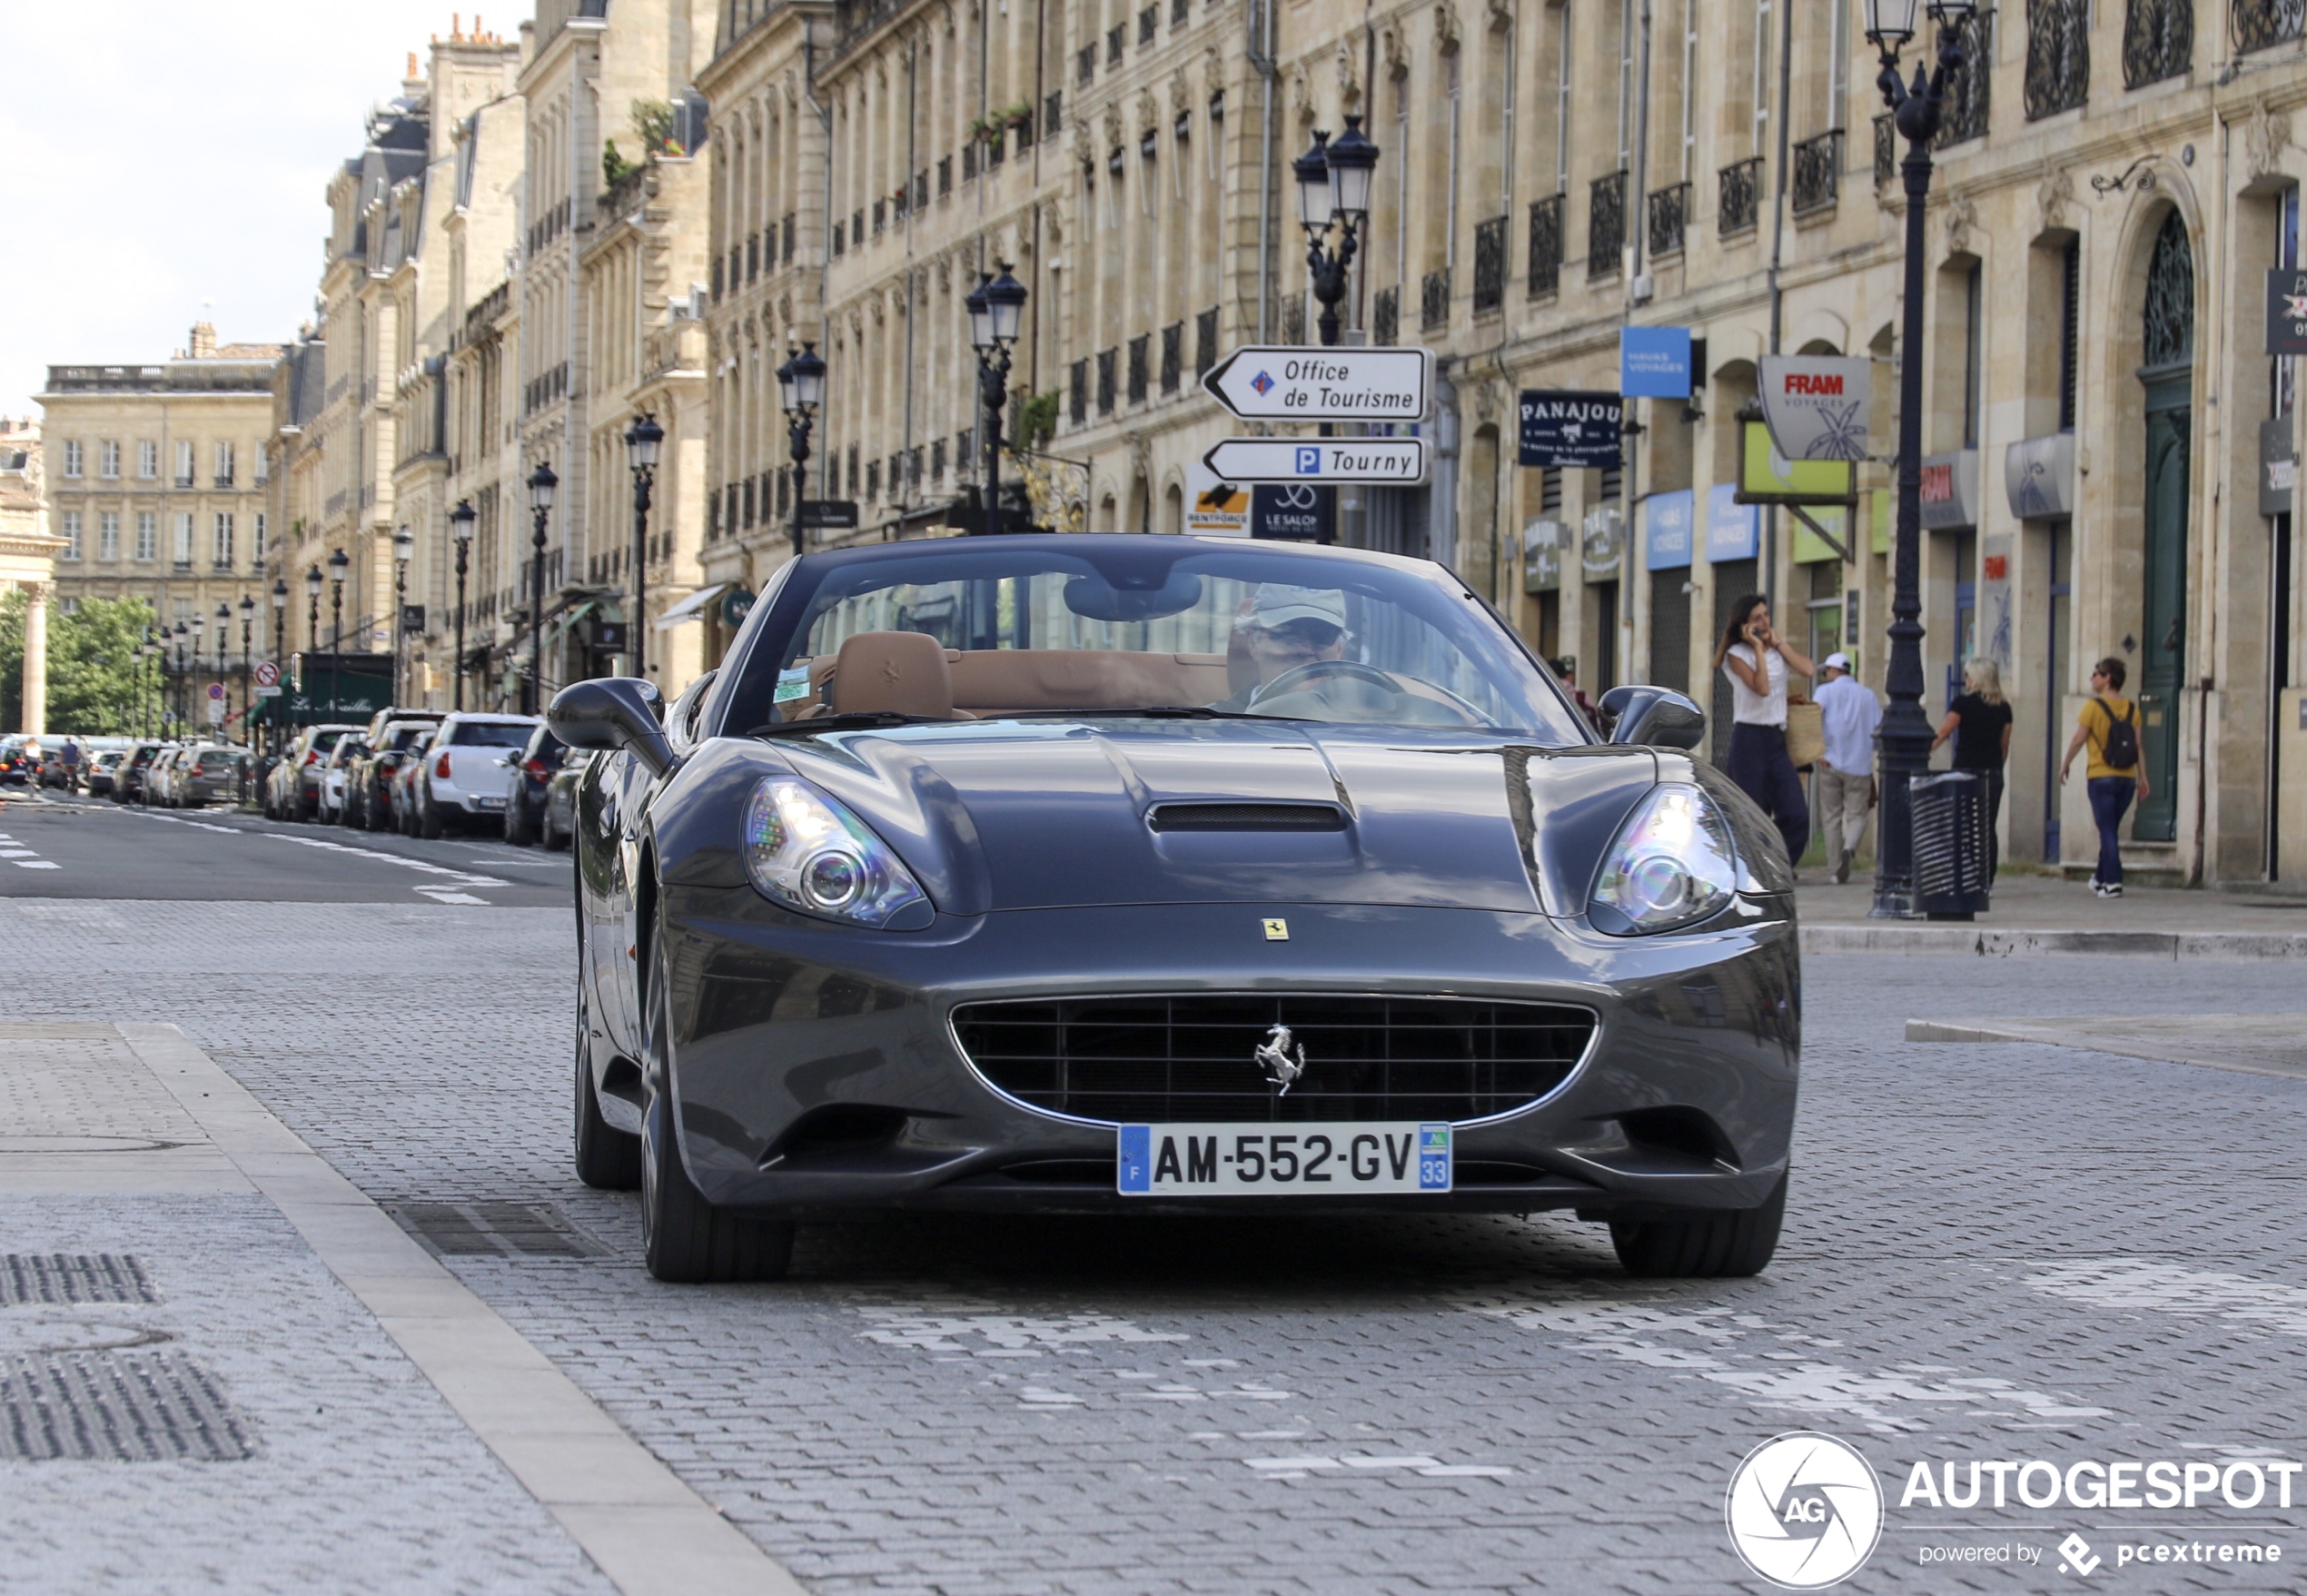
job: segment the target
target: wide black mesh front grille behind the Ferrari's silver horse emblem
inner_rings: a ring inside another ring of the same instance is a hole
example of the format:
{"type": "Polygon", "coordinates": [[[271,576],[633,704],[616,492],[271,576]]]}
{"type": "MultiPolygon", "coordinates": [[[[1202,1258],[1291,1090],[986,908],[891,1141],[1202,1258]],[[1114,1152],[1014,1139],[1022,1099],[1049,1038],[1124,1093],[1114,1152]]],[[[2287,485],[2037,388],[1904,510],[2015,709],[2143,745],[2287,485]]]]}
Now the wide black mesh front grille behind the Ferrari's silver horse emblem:
{"type": "Polygon", "coordinates": [[[1440,996],[1100,996],[962,1003],[953,1031],[999,1091],[1110,1123],[1488,1119],[1569,1079],[1594,1015],[1440,996]],[[1260,1047],[1290,1031],[1280,1091],[1260,1047]]]}

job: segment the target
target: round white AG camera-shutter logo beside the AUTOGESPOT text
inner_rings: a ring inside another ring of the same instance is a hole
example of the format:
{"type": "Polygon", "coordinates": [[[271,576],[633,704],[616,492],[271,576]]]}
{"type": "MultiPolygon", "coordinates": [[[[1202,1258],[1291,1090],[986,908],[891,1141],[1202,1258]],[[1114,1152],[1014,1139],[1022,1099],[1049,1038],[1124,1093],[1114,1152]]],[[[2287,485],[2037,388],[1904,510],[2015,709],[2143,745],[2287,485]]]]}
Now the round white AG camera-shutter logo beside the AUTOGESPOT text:
{"type": "Polygon", "coordinates": [[[1883,1536],[1883,1485],[1848,1441],[1816,1430],[1772,1437],[1730,1474],[1730,1545],[1758,1575],[1816,1591],[1857,1573],[1883,1536]]]}

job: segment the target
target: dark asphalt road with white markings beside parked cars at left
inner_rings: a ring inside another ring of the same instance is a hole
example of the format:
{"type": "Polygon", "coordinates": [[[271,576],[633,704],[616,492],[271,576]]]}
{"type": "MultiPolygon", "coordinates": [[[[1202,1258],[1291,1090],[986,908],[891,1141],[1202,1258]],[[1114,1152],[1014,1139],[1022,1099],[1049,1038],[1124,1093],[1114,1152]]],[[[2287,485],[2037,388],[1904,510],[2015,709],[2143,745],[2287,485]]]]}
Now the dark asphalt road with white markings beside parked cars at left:
{"type": "Polygon", "coordinates": [[[554,909],[570,856],[0,786],[0,897],[554,909]]]}

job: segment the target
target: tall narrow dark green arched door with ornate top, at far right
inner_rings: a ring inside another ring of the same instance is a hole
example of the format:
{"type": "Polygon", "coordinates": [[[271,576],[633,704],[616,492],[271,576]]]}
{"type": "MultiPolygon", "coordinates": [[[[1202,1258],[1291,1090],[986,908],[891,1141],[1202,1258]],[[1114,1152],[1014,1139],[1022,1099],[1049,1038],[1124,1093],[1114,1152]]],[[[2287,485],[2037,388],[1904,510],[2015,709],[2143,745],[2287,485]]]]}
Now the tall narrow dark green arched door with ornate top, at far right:
{"type": "Polygon", "coordinates": [[[2192,500],[2189,429],[2194,417],[2194,249],[2173,210],[2155,235],[2141,309],[2146,385],[2146,542],[2139,590],[2139,745],[2148,798],[2132,835],[2178,837],[2178,699],[2187,662],[2187,505],[2192,500]]]}

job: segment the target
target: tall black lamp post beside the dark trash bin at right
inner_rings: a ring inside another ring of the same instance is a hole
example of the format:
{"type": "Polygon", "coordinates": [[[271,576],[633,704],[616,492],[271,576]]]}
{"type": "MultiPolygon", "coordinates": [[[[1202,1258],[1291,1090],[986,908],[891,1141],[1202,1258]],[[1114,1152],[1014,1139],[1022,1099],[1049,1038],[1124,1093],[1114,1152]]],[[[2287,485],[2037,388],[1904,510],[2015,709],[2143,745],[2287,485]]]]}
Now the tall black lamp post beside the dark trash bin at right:
{"type": "Polygon", "coordinates": [[[1876,846],[1878,920],[1922,918],[1915,886],[1915,807],[1910,782],[1931,768],[1931,720],[1922,708],[1922,208],[1931,194],[1931,136],[1938,134],[1947,78],[1963,67],[1963,23],[1972,0],[1929,0],[1938,21],[1938,65],[1913,85],[1899,76],[1899,48],[1915,37],[1922,0],[1866,0],[1866,37],[1883,53],[1876,83],[1906,138],[1906,304],[1899,328],[1899,542],[1892,556],[1889,708],[1876,745],[1883,750],[1883,828],[1876,846]]]}

